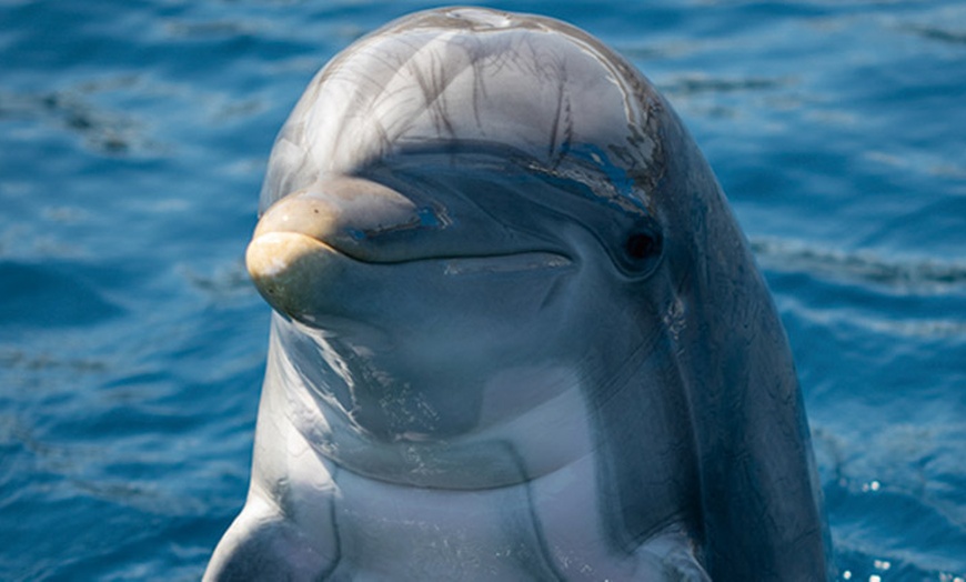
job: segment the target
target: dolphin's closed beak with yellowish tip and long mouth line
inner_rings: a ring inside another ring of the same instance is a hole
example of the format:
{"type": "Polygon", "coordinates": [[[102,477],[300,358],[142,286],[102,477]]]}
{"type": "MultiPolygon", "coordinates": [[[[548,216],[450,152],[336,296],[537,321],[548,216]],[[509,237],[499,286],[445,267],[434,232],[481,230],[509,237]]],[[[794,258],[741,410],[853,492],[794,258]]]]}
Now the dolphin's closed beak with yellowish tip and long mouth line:
{"type": "Polygon", "coordinates": [[[364,179],[320,182],[264,212],[245,252],[249,275],[276,311],[316,324],[491,285],[545,289],[577,267],[554,241],[482,212],[452,220],[447,209],[364,179]]]}

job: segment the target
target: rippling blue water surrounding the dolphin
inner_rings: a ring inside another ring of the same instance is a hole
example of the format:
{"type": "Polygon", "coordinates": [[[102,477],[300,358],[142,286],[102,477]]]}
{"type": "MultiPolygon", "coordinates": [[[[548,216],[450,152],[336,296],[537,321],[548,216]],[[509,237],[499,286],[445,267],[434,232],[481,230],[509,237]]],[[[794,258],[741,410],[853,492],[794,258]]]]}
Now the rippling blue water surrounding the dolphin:
{"type": "MultiPolygon", "coordinates": [[[[309,78],[416,1],[0,0],[0,580],[194,580],[244,499],[243,249],[309,78]]],[[[522,1],[694,133],[795,350],[842,580],[966,578],[966,7],[522,1]]]]}

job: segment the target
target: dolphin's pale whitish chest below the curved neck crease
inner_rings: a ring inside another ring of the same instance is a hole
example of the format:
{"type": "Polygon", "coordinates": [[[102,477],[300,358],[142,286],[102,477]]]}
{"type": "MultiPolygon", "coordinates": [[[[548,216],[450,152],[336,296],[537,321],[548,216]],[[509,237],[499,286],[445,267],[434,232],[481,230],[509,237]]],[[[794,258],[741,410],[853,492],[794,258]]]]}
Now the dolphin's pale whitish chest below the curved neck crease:
{"type": "Polygon", "coordinates": [[[442,491],[335,473],[333,580],[703,580],[672,530],[633,553],[605,545],[594,461],[484,491],[442,491]]]}

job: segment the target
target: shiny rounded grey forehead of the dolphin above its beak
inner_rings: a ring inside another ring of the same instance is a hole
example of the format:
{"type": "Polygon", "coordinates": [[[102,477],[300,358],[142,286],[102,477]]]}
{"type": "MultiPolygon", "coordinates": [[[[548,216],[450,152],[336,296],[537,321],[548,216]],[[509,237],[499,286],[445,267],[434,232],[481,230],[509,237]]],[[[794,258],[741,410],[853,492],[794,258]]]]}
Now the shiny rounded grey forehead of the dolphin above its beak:
{"type": "Polygon", "coordinates": [[[568,24],[421,12],[358,41],[312,80],[275,141],[261,204],[441,144],[500,147],[567,179],[647,190],[660,171],[661,110],[633,67],[568,24]]]}

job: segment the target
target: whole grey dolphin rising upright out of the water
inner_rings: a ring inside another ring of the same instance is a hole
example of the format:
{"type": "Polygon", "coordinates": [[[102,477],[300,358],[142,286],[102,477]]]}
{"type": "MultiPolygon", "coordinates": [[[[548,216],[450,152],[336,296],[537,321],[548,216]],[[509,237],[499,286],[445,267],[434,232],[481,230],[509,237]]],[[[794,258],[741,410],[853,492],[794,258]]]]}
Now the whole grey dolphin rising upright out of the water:
{"type": "Polygon", "coordinates": [[[785,333],[664,99],[562,22],[421,12],[278,137],[249,498],[207,580],[822,580],[785,333]]]}

